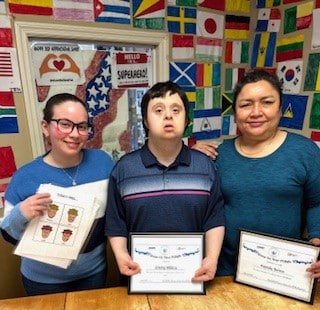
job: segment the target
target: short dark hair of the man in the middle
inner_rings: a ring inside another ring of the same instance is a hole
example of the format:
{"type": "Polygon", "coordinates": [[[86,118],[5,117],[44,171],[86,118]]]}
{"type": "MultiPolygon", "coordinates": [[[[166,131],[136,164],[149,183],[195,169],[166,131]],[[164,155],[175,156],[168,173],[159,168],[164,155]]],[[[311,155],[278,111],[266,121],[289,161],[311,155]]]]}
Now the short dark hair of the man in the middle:
{"type": "Polygon", "coordinates": [[[181,89],[181,87],[171,81],[166,82],[159,82],[154,84],[142,97],[141,101],[141,114],[142,114],[142,121],[143,121],[143,128],[146,133],[146,136],[148,137],[149,129],[145,125],[145,121],[147,120],[148,116],[148,105],[150,100],[154,98],[162,98],[165,97],[165,95],[169,92],[169,95],[178,94],[181,98],[184,109],[186,111],[186,126],[185,129],[189,125],[189,100],[187,98],[186,93],[181,89]]]}

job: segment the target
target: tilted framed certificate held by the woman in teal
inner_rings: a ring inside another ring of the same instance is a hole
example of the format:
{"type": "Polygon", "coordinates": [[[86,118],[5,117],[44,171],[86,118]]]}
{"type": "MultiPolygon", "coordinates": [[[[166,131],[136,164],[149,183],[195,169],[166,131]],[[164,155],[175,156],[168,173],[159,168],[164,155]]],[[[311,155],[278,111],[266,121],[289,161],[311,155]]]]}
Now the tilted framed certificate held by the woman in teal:
{"type": "Polygon", "coordinates": [[[306,269],[319,250],[304,241],[240,230],[234,280],[312,304],[317,282],[306,269]]]}

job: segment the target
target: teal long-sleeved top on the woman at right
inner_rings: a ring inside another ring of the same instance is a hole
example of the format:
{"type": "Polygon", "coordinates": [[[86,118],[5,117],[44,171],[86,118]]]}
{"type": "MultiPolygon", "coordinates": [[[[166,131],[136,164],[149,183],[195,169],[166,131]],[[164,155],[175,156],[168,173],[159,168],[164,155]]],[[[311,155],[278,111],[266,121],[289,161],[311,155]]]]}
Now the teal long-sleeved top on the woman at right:
{"type": "Polygon", "coordinates": [[[306,221],[308,237],[320,237],[318,146],[288,133],[272,154],[247,158],[234,141],[219,146],[216,160],[226,218],[217,275],[235,272],[240,228],[300,239],[306,221]]]}

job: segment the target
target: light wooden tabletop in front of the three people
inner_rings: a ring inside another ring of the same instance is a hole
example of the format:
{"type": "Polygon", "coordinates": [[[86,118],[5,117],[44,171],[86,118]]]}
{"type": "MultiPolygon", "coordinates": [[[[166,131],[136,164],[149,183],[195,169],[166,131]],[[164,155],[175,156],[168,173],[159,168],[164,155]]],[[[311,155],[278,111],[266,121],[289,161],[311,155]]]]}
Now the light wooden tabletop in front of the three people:
{"type": "Polygon", "coordinates": [[[294,300],[218,277],[207,286],[206,295],[128,295],[126,287],[114,287],[45,296],[0,300],[0,309],[42,310],[316,310],[320,309],[320,286],[314,304],[294,300]]]}

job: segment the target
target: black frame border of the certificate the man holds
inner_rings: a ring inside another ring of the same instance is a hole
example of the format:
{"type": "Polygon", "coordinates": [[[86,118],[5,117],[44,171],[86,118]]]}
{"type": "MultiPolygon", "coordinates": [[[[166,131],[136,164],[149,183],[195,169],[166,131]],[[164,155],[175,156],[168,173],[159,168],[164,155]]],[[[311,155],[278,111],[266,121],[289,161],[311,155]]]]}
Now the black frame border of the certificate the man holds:
{"type": "MultiPolygon", "coordinates": [[[[130,255],[132,253],[132,246],[134,244],[133,240],[135,237],[152,237],[152,238],[161,238],[161,239],[166,239],[166,238],[179,238],[179,237],[198,237],[199,244],[202,246],[202,259],[205,256],[205,233],[203,232],[196,232],[196,233],[170,233],[170,232],[152,232],[152,233],[144,233],[144,232],[134,232],[129,234],[129,252],[130,255]]],[[[206,283],[202,282],[201,283],[201,290],[197,290],[194,292],[190,291],[175,291],[175,290],[159,290],[159,291],[135,291],[133,289],[133,277],[129,277],[128,280],[128,294],[188,294],[188,295],[206,295],[206,283]]]]}

